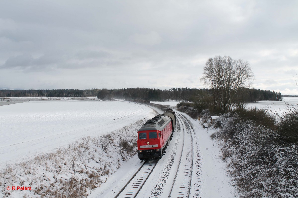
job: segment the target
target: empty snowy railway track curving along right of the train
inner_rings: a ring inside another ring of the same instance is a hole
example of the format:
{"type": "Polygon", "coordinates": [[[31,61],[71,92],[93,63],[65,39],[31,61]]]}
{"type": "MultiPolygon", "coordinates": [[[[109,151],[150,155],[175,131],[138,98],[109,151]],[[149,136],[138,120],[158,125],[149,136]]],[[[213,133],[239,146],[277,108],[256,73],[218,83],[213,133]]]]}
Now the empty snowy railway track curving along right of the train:
{"type": "Polygon", "coordinates": [[[183,129],[183,144],[174,181],[170,189],[170,197],[190,197],[190,187],[193,172],[194,144],[192,129],[188,121],[179,113],[176,116],[183,129]],[[183,120],[183,121],[182,121],[183,120]],[[185,127],[184,127],[185,126],[185,127]],[[185,128],[188,128],[185,129],[185,128]],[[185,137],[186,136],[186,137],[185,137]]]}

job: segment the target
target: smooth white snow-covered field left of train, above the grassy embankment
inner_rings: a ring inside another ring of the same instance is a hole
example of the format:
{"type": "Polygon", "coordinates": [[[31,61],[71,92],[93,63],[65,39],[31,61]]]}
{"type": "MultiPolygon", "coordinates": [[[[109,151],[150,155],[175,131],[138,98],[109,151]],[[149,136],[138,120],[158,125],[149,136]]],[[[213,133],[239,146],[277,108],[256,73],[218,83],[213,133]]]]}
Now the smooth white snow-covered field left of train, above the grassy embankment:
{"type": "Polygon", "coordinates": [[[148,106],[113,101],[30,101],[0,106],[0,168],[145,118],[148,106]]]}

